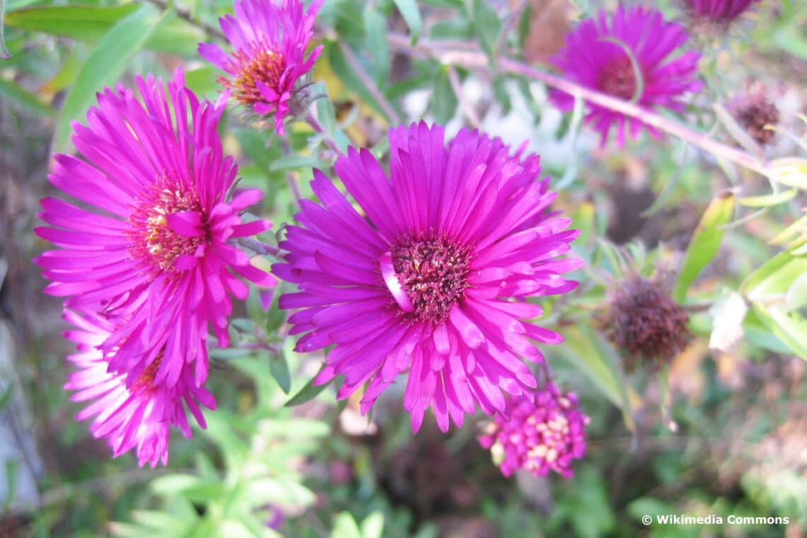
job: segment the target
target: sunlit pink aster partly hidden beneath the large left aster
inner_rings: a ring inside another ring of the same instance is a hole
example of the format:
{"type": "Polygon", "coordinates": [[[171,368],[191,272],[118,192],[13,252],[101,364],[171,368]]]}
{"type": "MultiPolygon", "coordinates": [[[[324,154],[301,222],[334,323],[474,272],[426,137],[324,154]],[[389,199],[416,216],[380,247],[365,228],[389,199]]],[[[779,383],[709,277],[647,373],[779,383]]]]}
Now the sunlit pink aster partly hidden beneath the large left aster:
{"type": "Polygon", "coordinates": [[[102,352],[104,341],[115,332],[115,324],[98,315],[68,309],[64,317],[77,327],[65,332],[65,338],[75,342],[78,350],[68,357],[78,371],[70,374],[65,389],[77,391],[71,398],[73,402],[91,401],[76,419],[95,417],[90,432],[107,439],[113,457],[136,448],[140,466],[148,462],[154,467],[157,461],[167,464],[170,428],[178,426],[186,437],[191,435],[183,402],[199,426],[206,427],[199,403],[215,409],[215,398],[196,386],[188,365],[183,366],[174,386],[157,386],[154,375],[160,354],[128,385],[125,375],[109,371],[102,352]]]}

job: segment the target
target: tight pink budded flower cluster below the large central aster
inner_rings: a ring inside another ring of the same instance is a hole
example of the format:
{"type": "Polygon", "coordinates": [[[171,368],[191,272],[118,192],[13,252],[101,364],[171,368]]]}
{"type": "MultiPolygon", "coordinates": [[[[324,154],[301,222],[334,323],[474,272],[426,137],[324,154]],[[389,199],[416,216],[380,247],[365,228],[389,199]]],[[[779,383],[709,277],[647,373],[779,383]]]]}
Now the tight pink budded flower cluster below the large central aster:
{"type": "Polygon", "coordinates": [[[588,417],[578,411],[577,396],[561,394],[550,382],[536,390],[532,399],[512,403],[510,418],[495,415],[486,434],[479,437],[504,476],[525,469],[539,477],[550,470],[571,477],[571,462],[586,452],[588,417]]]}

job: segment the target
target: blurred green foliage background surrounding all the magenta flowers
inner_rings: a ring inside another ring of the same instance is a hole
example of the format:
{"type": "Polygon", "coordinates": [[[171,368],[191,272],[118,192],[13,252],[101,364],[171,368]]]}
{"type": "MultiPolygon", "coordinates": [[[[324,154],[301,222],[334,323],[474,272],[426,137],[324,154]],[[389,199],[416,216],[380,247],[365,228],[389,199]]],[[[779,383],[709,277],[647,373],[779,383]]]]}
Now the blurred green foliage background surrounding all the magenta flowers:
{"type": "MultiPolygon", "coordinates": [[[[688,23],[677,2],[654,4],[688,23]]],[[[503,478],[476,441],[483,417],[448,435],[427,419],[412,436],[400,384],[369,419],[358,398],[337,404],[333,387],[307,384],[322,357],[295,354],[286,314],[276,299],[265,311],[257,293],[232,320],[237,345],[212,352],[219,408],[208,429],[172,440],[165,469],[140,469],[130,454],[112,460],[73,421],[60,304],[41,293],[30,262],[46,248],[31,230],[51,193],[50,154],[70,151],[70,122],[98,90],[131,85],[136,73],[184,65],[190,87],[215,99],[215,70],[195,49],[219,39],[217,18],[232,4],[5,0],[0,423],[13,450],[0,465],[0,536],[805,536],[807,5],[763,0],[727,34],[692,28],[708,90],[669,119],[767,162],[763,173],[673,136],[599,148],[579,115],[546,101],[544,85],[497,65],[504,55],[548,69],[575,19],[614,5],[327,0],[316,24],[325,51],[313,106],[341,148],[383,156],[388,126],[426,118],[526,140],[554,177],[586,265],[579,290],[541,302],[542,324],[567,340],[542,351],[592,419],[586,457],[564,480],[503,478]],[[780,109],[764,149],[721,114],[750,90],[780,109]],[[659,269],[674,274],[692,337],[663,369],[626,373],[592,318],[626,275],[659,269]],[[790,523],[642,525],[657,514],[790,523]]],[[[291,152],[237,113],[221,133],[282,236],[296,210],[291,185],[312,197],[311,169],[328,171],[332,152],[303,123],[291,127],[291,152]]]]}

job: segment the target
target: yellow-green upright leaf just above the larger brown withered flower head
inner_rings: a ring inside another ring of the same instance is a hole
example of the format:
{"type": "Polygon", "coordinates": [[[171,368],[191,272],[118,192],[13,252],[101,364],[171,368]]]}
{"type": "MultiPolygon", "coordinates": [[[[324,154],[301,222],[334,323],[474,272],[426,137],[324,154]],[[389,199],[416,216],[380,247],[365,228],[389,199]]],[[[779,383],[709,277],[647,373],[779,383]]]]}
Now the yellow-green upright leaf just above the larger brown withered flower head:
{"type": "Polygon", "coordinates": [[[675,282],[675,290],[672,293],[675,301],[684,300],[689,286],[717,254],[723,239],[721,227],[729,222],[733,211],[734,194],[730,192],[718,194],[706,208],[684,254],[678,281],[675,282]]]}

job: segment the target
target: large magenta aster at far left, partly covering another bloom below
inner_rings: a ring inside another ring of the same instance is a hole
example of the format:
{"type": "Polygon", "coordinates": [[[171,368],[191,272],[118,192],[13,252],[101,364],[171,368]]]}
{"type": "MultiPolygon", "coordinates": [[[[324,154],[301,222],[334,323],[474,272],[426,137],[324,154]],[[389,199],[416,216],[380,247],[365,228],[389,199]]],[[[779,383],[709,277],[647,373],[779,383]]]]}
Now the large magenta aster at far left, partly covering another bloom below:
{"type": "Polygon", "coordinates": [[[195,382],[207,377],[208,326],[228,345],[231,295],[239,278],[271,285],[231,241],[270,227],[243,223],[240,212],[261,199],[246,190],[227,200],[236,176],[222,155],[216,123],[224,104],[199,102],[182,71],[165,87],[137,79],[142,102],[119,86],[98,94],[88,126],[73,123],[73,144],[86,160],[56,155],[50,181],[85,202],[44,198],[36,233],[59,250],[36,263],[52,280],[48,294],[68,307],[124,315],[103,345],[111,371],[133,379],[161,355],[154,383],[174,386],[196,361],[195,382]],[[173,112],[172,112],[173,111],[173,112]]]}

